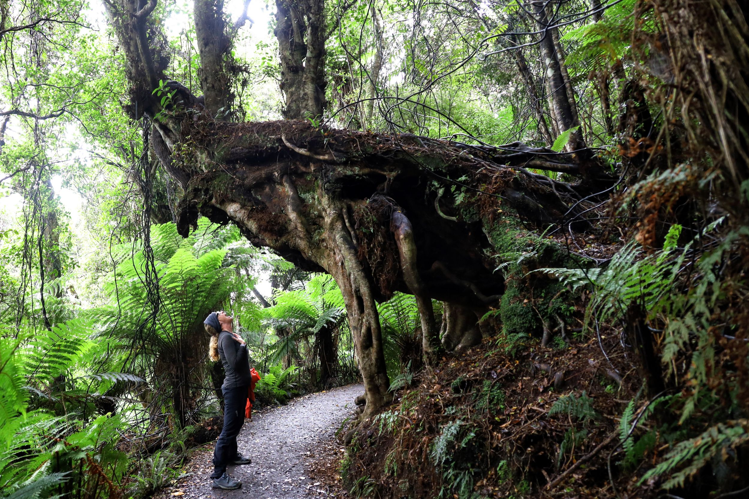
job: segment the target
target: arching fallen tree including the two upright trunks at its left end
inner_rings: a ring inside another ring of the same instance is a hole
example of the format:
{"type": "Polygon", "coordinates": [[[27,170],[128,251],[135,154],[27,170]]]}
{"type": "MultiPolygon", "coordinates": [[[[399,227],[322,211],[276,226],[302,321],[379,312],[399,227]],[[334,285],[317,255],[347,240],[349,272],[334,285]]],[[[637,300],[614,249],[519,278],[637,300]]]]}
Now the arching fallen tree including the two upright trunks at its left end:
{"type": "MultiPolygon", "coordinates": [[[[215,39],[228,28],[221,28],[216,12],[222,6],[214,3],[195,2],[202,97],[165,75],[160,31],[149,21],[155,0],[107,3],[132,83],[127,111],[151,121],[152,151],[184,193],[177,209],[182,235],[201,214],[235,223],[253,244],[336,279],[366,387],[363,417],[369,417],[389,398],[378,301],[394,291],[416,296],[427,359],[443,348],[440,335],[449,348],[475,344],[481,339],[476,314],[496,306],[505,291],[495,257],[512,249],[505,237],[510,228],[587,227],[589,203],[607,196],[615,179],[587,148],[469,145],[298,119],[232,123],[225,112],[226,71],[205,67],[228,50],[227,40],[215,39]],[[441,333],[432,299],[445,303],[441,333]]],[[[303,82],[319,88],[318,79],[303,82]]],[[[304,105],[292,108],[287,115],[299,118],[304,105]]]]}

